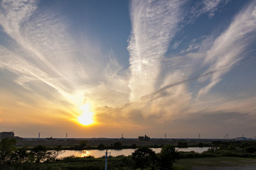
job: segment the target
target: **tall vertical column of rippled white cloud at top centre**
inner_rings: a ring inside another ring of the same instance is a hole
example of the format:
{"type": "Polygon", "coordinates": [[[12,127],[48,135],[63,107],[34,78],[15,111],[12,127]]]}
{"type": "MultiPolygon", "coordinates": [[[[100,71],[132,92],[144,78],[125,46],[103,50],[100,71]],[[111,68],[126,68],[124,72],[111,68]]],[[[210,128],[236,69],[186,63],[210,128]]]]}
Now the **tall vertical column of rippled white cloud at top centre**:
{"type": "Polygon", "coordinates": [[[183,1],[132,1],[128,46],[132,101],[154,92],[161,60],[182,19],[182,4],[183,1]]]}

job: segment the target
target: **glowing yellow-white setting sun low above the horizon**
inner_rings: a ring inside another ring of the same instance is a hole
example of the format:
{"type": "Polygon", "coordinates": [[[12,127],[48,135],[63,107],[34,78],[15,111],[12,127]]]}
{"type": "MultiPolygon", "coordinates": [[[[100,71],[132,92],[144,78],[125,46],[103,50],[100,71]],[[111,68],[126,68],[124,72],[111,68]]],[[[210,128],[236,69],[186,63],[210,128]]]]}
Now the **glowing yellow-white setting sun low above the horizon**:
{"type": "Polygon", "coordinates": [[[90,105],[85,103],[85,105],[80,108],[80,111],[81,114],[78,116],[78,122],[82,125],[92,125],[94,123],[94,113],[90,111],[90,105]]]}

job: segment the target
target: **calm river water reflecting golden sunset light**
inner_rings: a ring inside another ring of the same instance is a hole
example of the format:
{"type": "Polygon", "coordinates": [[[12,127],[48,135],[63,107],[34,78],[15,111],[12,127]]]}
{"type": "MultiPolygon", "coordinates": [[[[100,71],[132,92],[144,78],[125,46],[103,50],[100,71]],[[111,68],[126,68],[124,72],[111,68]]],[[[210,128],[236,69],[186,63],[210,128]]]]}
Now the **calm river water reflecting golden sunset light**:
{"type": "MultiPolygon", "coordinates": [[[[161,152],[161,148],[151,148],[154,152],[159,153],[161,152]]],[[[178,148],[176,147],[178,151],[182,152],[198,152],[202,153],[205,152],[209,149],[209,147],[187,147],[187,148],[178,148]]],[[[136,149],[108,149],[107,152],[109,152],[108,155],[111,155],[112,157],[117,157],[119,155],[124,155],[124,156],[129,156],[132,155],[132,152],[134,152],[136,149]]],[[[93,156],[95,158],[105,156],[106,150],[97,150],[97,149],[92,149],[92,150],[63,150],[57,158],[64,158],[64,157],[88,157],[88,156],[93,156]]]]}

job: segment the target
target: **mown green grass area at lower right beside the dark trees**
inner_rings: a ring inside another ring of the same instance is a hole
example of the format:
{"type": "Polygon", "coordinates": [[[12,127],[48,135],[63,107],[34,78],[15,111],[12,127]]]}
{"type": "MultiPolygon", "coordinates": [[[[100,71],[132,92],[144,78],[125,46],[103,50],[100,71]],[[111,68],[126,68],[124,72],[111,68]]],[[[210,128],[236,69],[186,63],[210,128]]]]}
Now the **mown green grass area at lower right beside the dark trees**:
{"type": "Polygon", "coordinates": [[[191,169],[197,166],[250,166],[256,165],[256,159],[240,157],[207,157],[180,159],[174,164],[175,170],[191,169]]]}

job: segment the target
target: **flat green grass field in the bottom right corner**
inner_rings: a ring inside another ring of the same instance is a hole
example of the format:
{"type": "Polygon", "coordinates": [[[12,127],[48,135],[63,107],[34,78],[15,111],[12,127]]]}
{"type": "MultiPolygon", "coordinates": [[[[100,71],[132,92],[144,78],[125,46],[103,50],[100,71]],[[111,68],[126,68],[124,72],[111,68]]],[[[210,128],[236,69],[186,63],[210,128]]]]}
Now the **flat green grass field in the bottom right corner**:
{"type": "Polygon", "coordinates": [[[175,170],[256,169],[256,159],[241,157],[208,157],[180,159],[175,170]]]}

